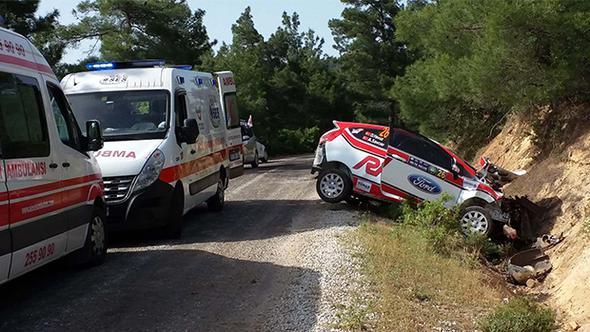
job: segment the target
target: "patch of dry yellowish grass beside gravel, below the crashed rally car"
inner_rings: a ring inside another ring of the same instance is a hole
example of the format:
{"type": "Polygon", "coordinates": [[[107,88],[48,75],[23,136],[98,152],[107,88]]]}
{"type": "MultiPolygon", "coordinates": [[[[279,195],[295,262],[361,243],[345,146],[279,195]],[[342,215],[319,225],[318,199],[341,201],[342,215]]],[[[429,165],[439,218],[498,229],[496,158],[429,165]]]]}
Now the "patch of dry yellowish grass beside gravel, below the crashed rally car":
{"type": "Polygon", "coordinates": [[[472,258],[438,254],[414,226],[366,222],[357,232],[379,330],[474,330],[502,298],[472,258]]]}

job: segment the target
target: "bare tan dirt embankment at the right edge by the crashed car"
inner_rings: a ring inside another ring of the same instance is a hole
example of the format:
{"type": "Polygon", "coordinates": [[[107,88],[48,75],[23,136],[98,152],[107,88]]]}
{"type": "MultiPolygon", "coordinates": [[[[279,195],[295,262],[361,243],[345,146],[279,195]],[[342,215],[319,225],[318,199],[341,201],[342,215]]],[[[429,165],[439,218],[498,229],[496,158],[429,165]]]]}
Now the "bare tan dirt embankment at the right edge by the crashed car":
{"type": "Polygon", "coordinates": [[[590,330],[590,105],[539,109],[513,116],[478,156],[527,174],[506,188],[547,208],[544,231],[566,240],[548,253],[554,265],[535,291],[564,315],[590,330]]]}

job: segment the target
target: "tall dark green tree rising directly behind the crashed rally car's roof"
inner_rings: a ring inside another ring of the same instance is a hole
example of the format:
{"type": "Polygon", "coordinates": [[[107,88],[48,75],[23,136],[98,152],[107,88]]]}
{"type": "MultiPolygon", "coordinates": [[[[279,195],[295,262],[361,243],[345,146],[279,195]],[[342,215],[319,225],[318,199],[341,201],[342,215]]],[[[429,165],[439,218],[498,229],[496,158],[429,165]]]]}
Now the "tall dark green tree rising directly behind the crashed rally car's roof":
{"type": "Polygon", "coordinates": [[[412,59],[395,36],[394,18],[401,7],[394,0],[341,1],[347,5],[342,18],[329,25],[356,117],[385,123],[396,109],[389,90],[412,59]]]}

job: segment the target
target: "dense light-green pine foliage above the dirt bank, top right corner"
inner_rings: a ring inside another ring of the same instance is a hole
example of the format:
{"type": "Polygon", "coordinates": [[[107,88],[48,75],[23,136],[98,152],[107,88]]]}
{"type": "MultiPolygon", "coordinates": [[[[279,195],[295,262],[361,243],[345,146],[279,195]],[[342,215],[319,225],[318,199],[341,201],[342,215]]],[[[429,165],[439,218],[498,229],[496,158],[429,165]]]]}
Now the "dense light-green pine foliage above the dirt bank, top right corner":
{"type": "Polygon", "coordinates": [[[585,1],[446,0],[403,10],[397,37],[421,56],[391,91],[401,117],[473,146],[508,112],[587,98],[589,9],[585,1]]]}

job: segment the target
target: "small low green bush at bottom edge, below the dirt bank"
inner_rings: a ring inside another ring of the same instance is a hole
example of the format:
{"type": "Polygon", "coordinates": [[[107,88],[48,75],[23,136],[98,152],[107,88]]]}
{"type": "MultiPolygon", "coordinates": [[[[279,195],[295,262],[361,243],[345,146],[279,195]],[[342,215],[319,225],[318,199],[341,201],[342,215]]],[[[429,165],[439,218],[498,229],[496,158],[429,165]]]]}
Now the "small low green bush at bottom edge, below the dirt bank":
{"type": "Polygon", "coordinates": [[[546,332],[554,331],[555,312],[526,298],[516,298],[498,306],[480,321],[484,332],[546,332]]]}

